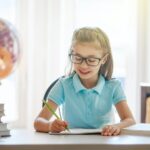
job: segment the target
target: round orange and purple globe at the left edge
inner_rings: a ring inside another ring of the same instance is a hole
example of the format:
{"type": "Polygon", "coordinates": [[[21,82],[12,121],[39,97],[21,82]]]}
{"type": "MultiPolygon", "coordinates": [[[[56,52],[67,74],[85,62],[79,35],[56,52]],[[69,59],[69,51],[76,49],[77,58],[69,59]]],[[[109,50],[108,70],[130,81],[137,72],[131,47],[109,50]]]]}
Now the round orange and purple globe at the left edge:
{"type": "Polygon", "coordinates": [[[20,58],[20,44],[15,27],[0,19],[0,80],[9,76],[20,58]]]}

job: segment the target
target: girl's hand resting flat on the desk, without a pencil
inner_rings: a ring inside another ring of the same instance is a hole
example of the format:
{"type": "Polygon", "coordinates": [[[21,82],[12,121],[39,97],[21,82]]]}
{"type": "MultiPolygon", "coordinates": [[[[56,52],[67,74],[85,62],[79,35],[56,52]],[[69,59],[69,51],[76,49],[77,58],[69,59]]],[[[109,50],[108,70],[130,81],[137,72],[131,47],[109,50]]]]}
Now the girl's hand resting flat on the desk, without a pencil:
{"type": "Polygon", "coordinates": [[[112,136],[112,135],[119,135],[121,129],[115,125],[107,125],[103,128],[101,135],[103,136],[112,136]]]}

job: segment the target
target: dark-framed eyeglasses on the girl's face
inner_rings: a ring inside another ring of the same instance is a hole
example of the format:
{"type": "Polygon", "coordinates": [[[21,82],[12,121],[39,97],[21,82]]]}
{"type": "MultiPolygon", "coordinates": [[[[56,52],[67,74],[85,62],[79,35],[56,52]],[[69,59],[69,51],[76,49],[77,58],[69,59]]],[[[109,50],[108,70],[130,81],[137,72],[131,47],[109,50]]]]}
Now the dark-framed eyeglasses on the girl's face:
{"type": "Polygon", "coordinates": [[[97,66],[99,62],[101,61],[101,58],[95,58],[95,57],[81,57],[77,54],[69,54],[70,60],[74,64],[82,64],[83,61],[86,62],[88,66],[97,66]]]}

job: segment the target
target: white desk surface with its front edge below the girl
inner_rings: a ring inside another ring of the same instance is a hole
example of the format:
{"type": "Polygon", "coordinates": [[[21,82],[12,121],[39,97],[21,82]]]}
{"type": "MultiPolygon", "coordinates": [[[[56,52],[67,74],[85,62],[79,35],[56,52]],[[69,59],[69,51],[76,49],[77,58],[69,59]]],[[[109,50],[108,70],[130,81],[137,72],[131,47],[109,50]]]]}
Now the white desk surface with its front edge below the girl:
{"type": "Polygon", "coordinates": [[[49,135],[17,129],[0,138],[2,150],[150,150],[150,136],[49,135]]]}

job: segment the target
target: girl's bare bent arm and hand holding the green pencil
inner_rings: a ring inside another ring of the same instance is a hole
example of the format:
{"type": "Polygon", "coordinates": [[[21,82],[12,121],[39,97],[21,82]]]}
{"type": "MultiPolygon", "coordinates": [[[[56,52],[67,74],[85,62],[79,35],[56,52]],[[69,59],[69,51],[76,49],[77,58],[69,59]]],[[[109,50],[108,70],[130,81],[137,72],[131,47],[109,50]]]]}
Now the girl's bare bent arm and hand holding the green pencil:
{"type": "MultiPolygon", "coordinates": [[[[58,107],[52,100],[48,100],[48,104],[54,111],[58,107]]],[[[67,126],[65,121],[56,119],[53,122],[50,122],[49,120],[51,117],[52,113],[44,106],[34,121],[35,130],[39,132],[60,132],[65,130],[67,126]]]]}

